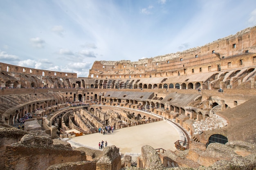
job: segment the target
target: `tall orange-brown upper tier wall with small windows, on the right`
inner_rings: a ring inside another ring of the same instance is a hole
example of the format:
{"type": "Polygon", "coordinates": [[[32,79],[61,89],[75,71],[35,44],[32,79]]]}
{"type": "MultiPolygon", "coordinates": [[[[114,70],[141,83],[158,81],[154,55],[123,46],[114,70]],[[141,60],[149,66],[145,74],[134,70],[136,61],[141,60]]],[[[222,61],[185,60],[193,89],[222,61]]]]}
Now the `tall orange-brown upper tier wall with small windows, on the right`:
{"type": "MultiPolygon", "coordinates": [[[[139,73],[160,73],[162,71],[187,69],[198,65],[218,62],[239,55],[256,53],[256,26],[244,29],[228,37],[216,40],[201,47],[171,53],[153,58],[141,59],[138,62],[95,61],[89,77],[108,75],[133,75],[139,73]]],[[[227,60],[226,60],[227,62],[227,60]]],[[[225,63],[226,63],[225,62],[225,63]]],[[[208,67],[208,66],[207,66],[208,67]]],[[[131,76],[134,77],[134,76],[131,76]]],[[[119,77],[117,77],[119,78],[119,77]]]]}

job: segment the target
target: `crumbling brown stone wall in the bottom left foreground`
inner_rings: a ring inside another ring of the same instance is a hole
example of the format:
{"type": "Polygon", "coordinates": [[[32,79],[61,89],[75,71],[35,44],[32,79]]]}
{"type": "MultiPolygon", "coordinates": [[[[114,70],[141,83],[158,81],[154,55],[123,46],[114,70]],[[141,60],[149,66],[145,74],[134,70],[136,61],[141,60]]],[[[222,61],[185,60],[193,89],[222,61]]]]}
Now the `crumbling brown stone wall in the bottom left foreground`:
{"type": "Polygon", "coordinates": [[[20,142],[6,147],[6,170],[46,170],[47,167],[67,162],[85,161],[84,152],[64,145],[53,145],[52,139],[24,135],[20,142]]]}

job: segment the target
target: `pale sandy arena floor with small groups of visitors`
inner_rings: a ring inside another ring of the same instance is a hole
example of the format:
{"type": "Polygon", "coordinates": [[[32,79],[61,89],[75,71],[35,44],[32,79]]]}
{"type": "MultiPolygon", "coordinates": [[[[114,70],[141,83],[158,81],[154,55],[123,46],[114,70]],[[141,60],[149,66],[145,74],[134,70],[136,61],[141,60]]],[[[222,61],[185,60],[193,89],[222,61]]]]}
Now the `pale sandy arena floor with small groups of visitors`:
{"type": "MultiPolygon", "coordinates": [[[[70,138],[68,143],[74,147],[89,147],[99,149],[99,142],[108,142],[108,146],[115,145],[124,153],[141,153],[141,147],[150,145],[153,148],[175,150],[174,142],[179,140],[180,134],[170,123],[157,121],[150,124],[132,126],[114,130],[110,135],[94,133],[70,138]]],[[[104,144],[105,146],[105,144],[104,144]]]]}

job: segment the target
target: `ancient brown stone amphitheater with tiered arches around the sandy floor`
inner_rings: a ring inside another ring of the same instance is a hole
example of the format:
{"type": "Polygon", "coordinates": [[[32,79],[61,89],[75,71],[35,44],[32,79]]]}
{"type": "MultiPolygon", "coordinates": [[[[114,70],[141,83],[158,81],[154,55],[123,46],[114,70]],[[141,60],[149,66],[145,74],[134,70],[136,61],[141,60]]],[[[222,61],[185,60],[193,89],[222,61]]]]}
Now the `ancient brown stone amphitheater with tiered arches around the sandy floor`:
{"type": "Polygon", "coordinates": [[[95,61],[89,77],[0,63],[0,169],[256,169],[256,27],[137,62],[95,61]],[[177,150],[72,148],[106,125],[157,120],[181,129],[177,150]],[[68,131],[68,130],[71,130],[68,131]]]}

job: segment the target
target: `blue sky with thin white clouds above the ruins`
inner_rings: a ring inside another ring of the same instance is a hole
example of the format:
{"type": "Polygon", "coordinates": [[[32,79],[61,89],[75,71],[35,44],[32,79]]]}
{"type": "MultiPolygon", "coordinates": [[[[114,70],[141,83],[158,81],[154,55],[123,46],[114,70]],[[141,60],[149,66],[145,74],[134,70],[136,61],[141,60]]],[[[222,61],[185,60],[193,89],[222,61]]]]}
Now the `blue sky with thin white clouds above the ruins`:
{"type": "Polygon", "coordinates": [[[0,0],[0,62],[88,77],[255,25],[255,0],[0,0]]]}

